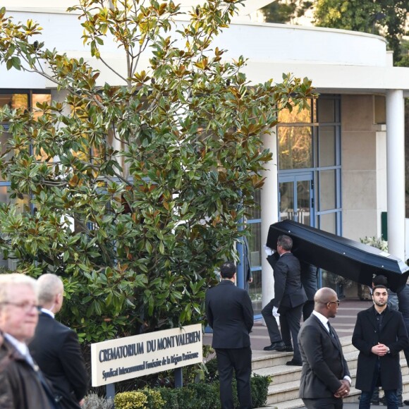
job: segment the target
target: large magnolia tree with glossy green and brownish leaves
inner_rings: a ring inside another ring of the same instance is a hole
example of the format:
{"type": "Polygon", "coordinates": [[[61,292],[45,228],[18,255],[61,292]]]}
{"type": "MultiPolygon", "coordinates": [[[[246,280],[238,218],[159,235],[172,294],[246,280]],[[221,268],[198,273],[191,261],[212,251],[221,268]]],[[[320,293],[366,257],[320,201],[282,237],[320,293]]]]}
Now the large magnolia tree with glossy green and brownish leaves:
{"type": "Polygon", "coordinates": [[[81,0],[70,11],[111,70],[103,85],[83,59],[47,49],[37,23],[1,8],[0,63],[44,75],[64,97],[37,112],[0,110],[11,197],[0,204],[0,248],[18,271],[63,277],[63,319],[80,338],[204,319],[204,291],[234,257],[271,159],[261,137],[280,109],[314,96],[290,75],[250,85],[245,59],[226,62],[212,47],[243,2],[209,0],[182,26],[172,1],[81,0]],[[104,59],[111,42],[123,71],[104,59]]]}

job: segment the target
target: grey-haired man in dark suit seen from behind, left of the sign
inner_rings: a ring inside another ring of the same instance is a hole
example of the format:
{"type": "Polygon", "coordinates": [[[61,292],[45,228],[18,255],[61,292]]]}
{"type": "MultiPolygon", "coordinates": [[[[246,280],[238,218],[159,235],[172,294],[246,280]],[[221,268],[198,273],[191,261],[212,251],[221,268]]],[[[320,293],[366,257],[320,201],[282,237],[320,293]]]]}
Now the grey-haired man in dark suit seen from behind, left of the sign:
{"type": "Polygon", "coordinates": [[[87,392],[85,362],[77,334],[54,319],[63,305],[63,282],[54,274],[43,274],[37,286],[42,310],[30,353],[60,396],[61,408],[79,409],[87,392]]]}

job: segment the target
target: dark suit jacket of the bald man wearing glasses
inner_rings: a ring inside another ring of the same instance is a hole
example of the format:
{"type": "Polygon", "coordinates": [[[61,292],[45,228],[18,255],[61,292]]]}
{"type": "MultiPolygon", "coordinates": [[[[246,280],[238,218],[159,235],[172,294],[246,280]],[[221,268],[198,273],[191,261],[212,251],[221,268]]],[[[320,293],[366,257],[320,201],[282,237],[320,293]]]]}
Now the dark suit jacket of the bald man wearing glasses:
{"type": "Polygon", "coordinates": [[[298,333],[298,345],[303,359],[300,398],[334,397],[343,377],[350,376],[343,357],[341,343],[333,330],[331,336],[322,322],[311,315],[298,333]]]}

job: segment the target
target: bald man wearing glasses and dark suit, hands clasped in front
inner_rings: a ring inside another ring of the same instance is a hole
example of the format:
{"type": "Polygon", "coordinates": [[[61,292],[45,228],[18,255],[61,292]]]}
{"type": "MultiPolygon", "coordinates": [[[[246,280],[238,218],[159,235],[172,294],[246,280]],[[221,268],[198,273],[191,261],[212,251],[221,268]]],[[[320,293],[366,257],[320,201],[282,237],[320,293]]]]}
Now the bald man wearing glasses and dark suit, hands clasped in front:
{"type": "Polygon", "coordinates": [[[329,324],[338,309],[336,292],[320,288],[314,311],[298,334],[303,370],[300,398],[308,409],[341,409],[350,391],[350,373],[336,331],[329,324]]]}

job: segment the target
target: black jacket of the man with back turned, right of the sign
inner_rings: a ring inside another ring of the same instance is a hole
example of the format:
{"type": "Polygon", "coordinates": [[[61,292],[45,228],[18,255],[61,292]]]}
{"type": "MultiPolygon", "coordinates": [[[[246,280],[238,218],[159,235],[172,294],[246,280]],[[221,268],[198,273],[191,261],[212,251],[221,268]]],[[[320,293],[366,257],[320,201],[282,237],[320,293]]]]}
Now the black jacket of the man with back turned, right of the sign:
{"type": "Polygon", "coordinates": [[[206,293],[206,315],[213,329],[213,348],[250,346],[254,313],[248,292],[223,280],[206,293]]]}

